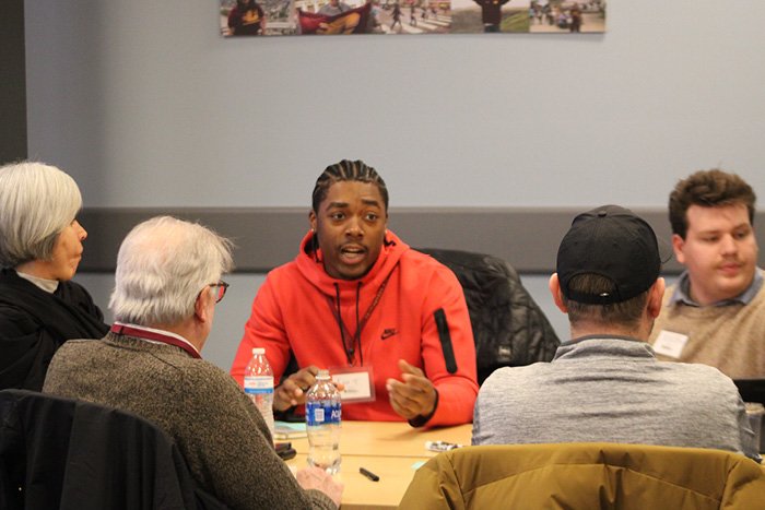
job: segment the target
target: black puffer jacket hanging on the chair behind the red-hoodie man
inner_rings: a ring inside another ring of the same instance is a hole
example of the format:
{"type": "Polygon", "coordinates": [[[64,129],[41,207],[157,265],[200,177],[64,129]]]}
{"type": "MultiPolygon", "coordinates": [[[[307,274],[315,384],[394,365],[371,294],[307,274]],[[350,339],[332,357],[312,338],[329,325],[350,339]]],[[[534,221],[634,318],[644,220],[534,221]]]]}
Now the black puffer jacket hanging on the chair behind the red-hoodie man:
{"type": "Polygon", "coordinates": [[[504,260],[458,250],[417,251],[449,268],[462,284],[475,337],[479,384],[499,367],[553,358],[561,342],[518,273],[504,260]]]}

